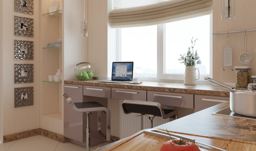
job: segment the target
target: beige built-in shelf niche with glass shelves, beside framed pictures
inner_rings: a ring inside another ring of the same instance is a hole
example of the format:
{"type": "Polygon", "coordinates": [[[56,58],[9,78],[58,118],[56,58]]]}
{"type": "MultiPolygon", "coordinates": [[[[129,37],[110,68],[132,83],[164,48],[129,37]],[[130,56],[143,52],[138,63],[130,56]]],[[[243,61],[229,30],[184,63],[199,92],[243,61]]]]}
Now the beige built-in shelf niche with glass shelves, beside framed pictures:
{"type": "MultiPolygon", "coordinates": [[[[62,85],[63,81],[48,81],[48,75],[54,75],[57,69],[62,69],[62,46],[45,47],[48,43],[62,38],[62,12],[63,10],[48,12],[49,6],[54,0],[41,2],[40,22],[40,128],[63,135],[63,111],[62,111],[62,85]],[[59,13],[61,12],[61,13],[59,13]],[[54,17],[53,17],[54,16],[54,17]],[[50,51],[52,50],[52,51],[50,51]]],[[[62,1],[62,0],[59,0],[62,1]]]]}

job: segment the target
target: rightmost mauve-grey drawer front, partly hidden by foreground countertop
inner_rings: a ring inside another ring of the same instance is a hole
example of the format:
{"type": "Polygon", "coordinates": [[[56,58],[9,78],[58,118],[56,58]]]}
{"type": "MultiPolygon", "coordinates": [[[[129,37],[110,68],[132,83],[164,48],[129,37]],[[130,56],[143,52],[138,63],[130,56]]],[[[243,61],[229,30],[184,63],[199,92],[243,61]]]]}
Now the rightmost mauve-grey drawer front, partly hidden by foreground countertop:
{"type": "Polygon", "coordinates": [[[229,101],[229,97],[195,95],[195,112],[226,101],[229,101]]]}

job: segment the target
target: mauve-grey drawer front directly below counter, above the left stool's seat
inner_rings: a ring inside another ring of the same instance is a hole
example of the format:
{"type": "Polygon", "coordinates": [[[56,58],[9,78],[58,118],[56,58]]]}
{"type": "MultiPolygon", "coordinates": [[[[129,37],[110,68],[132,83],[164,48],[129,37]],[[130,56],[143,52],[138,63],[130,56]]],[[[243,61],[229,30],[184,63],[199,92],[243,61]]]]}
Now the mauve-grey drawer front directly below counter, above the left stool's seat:
{"type": "Polygon", "coordinates": [[[93,87],[84,86],[84,95],[111,98],[111,88],[110,87],[93,87]]]}

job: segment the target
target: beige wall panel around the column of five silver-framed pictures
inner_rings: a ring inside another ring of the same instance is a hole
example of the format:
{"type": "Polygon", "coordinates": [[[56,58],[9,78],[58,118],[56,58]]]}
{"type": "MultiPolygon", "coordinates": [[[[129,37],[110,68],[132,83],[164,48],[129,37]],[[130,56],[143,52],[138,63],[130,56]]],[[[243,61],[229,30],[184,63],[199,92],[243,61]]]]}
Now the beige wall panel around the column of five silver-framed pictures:
{"type": "MultiPolygon", "coordinates": [[[[1,1],[2,2],[2,1],[1,1]]],[[[14,11],[13,0],[3,0],[3,41],[1,40],[1,108],[3,135],[40,127],[40,43],[39,1],[34,1],[34,14],[14,11]],[[14,16],[34,19],[34,37],[14,36],[14,16]],[[34,60],[14,60],[14,40],[34,41],[34,60]],[[34,82],[14,84],[14,64],[34,64],[34,82]],[[34,87],[34,105],[14,108],[14,88],[34,87]]]]}

